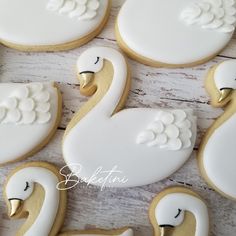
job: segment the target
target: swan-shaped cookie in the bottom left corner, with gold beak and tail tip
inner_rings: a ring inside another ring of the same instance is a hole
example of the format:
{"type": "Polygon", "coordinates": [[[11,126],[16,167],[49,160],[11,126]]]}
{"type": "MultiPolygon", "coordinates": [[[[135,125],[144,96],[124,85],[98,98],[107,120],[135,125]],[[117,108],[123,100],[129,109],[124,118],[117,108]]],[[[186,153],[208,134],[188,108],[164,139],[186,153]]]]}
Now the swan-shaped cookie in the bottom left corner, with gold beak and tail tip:
{"type": "Polygon", "coordinates": [[[27,219],[17,235],[26,236],[133,236],[131,229],[91,230],[59,233],[66,211],[66,191],[59,191],[64,179],[56,167],[45,162],[23,164],[8,177],[5,200],[12,218],[27,219]],[[28,213],[28,214],[26,214],[28,213]]]}

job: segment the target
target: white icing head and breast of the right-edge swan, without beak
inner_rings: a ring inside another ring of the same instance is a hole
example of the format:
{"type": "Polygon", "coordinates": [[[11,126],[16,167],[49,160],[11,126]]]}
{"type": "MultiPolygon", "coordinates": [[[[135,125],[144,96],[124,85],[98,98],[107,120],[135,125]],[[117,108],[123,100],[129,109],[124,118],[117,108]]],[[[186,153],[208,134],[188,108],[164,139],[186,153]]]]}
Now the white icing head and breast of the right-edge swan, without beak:
{"type": "MultiPolygon", "coordinates": [[[[221,63],[215,70],[214,81],[218,90],[236,89],[236,60],[221,63]]],[[[223,114],[224,116],[224,114],[223,114]]],[[[207,177],[222,192],[236,198],[236,114],[233,114],[208,139],[203,152],[207,177]]]]}

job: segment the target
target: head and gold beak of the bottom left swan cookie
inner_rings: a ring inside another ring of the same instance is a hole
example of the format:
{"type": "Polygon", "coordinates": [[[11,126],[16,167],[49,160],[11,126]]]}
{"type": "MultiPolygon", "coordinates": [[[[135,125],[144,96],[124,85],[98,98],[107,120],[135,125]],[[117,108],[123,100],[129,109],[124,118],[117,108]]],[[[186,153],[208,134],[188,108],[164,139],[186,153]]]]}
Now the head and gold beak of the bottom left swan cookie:
{"type": "Polygon", "coordinates": [[[33,190],[34,183],[29,180],[23,169],[10,175],[5,186],[10,217],[21,213],[24,201],[31,196],[33,190]]]}

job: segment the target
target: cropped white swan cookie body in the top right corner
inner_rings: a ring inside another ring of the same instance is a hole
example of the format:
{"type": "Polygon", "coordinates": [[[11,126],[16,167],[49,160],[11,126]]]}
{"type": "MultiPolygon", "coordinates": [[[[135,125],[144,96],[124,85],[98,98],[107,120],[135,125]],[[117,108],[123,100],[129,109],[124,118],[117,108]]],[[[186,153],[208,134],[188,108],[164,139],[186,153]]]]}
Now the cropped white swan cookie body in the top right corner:
{"type": "Polygon", "coordinates": [[[132,58],[151,66],[192,66],[217,55],[236,24],[236,0],[126,0],[117,40],[132,58]]]}

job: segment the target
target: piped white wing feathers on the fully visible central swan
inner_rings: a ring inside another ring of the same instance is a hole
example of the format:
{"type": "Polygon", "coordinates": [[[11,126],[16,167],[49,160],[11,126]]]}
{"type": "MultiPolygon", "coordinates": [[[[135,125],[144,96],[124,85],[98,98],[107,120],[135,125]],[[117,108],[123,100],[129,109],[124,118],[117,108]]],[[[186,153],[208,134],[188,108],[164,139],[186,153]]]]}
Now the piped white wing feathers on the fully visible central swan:
{"type": "Polygon", "coordinates": [[[177,151],[191,147],[192,122],[183,110],[159,111],[155,120],[141,132],[136,142],[148,147],[177,151]]]}

